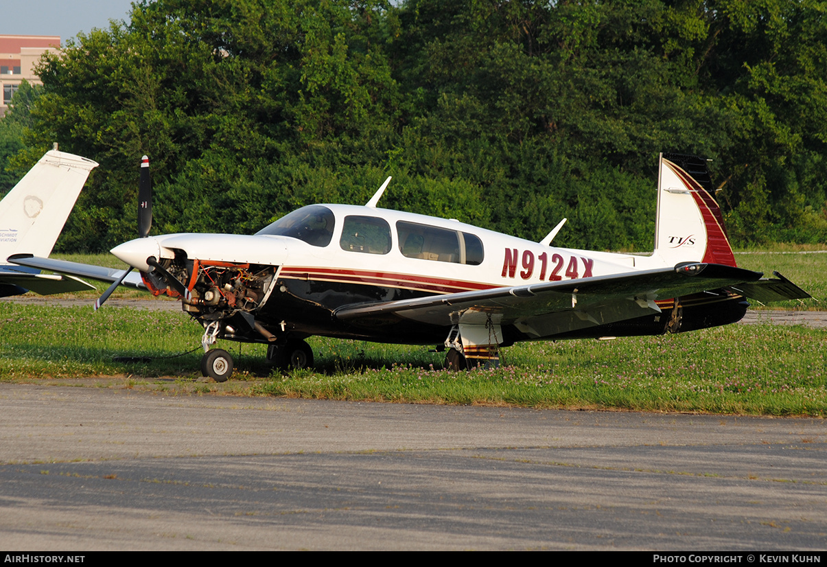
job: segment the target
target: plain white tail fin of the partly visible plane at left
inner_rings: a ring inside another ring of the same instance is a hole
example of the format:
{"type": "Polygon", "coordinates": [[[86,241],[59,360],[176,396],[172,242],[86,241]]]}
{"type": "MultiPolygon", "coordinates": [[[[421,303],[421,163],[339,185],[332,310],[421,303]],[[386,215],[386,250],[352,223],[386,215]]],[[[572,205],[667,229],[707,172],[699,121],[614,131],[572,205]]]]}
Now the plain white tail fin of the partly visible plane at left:
{"type": "Polygon", "coordinates": [[[47,151],[0,201],[0,264],[12,254],[49,256],[69,212],[98,164],[47,151]]]}

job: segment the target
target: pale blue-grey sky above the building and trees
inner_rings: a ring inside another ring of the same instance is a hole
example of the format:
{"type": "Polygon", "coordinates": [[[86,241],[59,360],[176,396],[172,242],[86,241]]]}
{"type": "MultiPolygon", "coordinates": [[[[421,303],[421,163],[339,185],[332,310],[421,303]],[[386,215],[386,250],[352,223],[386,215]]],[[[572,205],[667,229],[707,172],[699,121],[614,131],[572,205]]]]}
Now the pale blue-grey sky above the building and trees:
{"type": "Polygon", "coordinates": [[[131,0],[0,0],[0,35],[60,36],[107,28],[109,20],[127,20],[131,0]]]}

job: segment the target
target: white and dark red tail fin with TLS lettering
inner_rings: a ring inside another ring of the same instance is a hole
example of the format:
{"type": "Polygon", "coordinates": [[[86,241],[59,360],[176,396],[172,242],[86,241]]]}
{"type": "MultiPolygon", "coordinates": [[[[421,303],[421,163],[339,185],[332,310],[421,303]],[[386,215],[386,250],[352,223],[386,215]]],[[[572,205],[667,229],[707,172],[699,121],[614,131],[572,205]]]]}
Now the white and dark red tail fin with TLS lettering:
{"type": "Polygon", "coordinates": [[[654,257],[669,264],[705,262],[735,266],[724,217],[713,195],[715,190],[705,160],[661,154],[654,257]]]}

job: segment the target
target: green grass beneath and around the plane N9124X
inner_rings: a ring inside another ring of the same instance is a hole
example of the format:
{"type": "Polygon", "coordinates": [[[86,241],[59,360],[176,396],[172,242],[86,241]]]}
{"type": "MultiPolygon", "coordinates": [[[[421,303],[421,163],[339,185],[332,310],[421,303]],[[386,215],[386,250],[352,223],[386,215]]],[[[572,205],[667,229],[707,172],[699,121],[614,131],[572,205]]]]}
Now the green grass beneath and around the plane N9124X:
{"type": "MultiPolygon", "coordinates": [[[[739,252],[739,265],[781,271],[822,300],[827,254],[739,252]],[[809,282],[809,283],[808,283],[809,282]]],[[[99,263],[96,257],[70,258],[99,263]]],[[[119,292],[120,293],[120,292],[119,292]]],[[[93,295],[93,294],[92,294],[93,295]]],[[[820,308],[814,300],[790,308],[820,308]]],[[[220,344],[236,358],[229,382],[200,377],[201,329],[187,315],[127,308],[0,303],[0,380],[117,376],[127,387],[170,382],[189,393],[337,400],[825,416],[827,331],[771,324],[614,341],[517,344],[503,366],[442,370],[444,353],[310,339],[315,371],[271,373],[264,346],[220,344]],[[194,353],[176,356],[196,349],[194,353]],[[113,357],[152,358],[116,362],[113,357]]],[[[174,388],[173,388],[174,389],[174,388]]]]}

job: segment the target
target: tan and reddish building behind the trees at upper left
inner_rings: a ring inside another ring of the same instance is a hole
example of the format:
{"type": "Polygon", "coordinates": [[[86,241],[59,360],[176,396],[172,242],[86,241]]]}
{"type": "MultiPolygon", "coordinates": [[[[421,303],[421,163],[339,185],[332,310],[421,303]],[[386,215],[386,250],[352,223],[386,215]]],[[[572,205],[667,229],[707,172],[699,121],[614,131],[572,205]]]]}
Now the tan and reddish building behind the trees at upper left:
{"type": "Polygon", "coordinates": [[[0,116],[23,79],[41,84],[35,74],[37,60],[46,51],[60,50],[60,36],[0,36],[0,116]]]}

